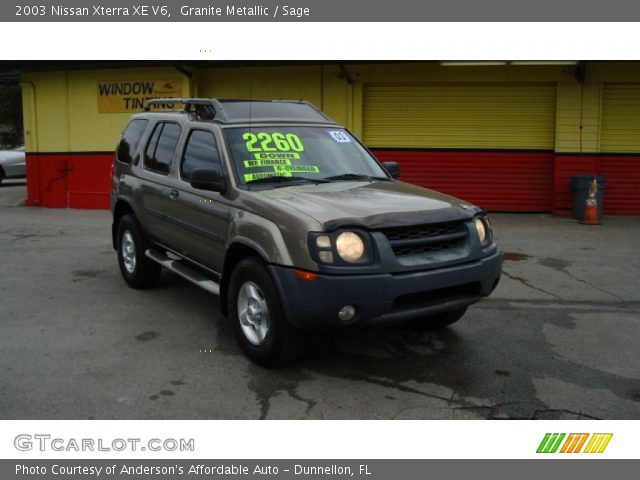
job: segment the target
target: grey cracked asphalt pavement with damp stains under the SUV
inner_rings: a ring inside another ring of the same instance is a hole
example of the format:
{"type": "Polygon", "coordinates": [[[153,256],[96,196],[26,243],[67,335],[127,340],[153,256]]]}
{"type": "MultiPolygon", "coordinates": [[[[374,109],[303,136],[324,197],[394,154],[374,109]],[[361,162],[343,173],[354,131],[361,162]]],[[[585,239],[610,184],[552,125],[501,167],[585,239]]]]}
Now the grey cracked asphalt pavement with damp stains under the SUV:
{"type": "Polygon", "coordinates": [[[493,214],[494,294],[437,333],[318,334],[266,370],[217,297],[128,288],[107,211],[0,187],[1,419],[640,419],[640,217],[493,214]]]}

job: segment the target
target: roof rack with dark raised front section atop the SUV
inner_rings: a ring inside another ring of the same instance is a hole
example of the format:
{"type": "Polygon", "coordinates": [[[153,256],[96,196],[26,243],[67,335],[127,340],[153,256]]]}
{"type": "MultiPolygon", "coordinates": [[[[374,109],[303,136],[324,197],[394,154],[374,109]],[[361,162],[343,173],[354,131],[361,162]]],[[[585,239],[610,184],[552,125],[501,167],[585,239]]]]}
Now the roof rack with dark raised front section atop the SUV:
{"type": "Polygon", "coordinates": [[[304,100],[246,100],[215,98],[155,98],[149,100],[145,112],[153,106],[182,104],[174,112],[196,115],[198,120],[219,123],[302,122],[335,125],[335,122],[304,100]]]}

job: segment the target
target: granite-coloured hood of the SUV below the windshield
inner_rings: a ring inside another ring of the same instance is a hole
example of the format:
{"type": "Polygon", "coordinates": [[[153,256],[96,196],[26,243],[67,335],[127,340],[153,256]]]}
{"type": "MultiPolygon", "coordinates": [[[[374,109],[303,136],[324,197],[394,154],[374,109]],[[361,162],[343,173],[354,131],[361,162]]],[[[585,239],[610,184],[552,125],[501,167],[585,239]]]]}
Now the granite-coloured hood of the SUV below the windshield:
{"type": "Polygon", "coordinates": [[[327,231],[447,222],[480,211],[449,195],[399,181],[305,184],[255,193],[311,216],[327,231]]]}

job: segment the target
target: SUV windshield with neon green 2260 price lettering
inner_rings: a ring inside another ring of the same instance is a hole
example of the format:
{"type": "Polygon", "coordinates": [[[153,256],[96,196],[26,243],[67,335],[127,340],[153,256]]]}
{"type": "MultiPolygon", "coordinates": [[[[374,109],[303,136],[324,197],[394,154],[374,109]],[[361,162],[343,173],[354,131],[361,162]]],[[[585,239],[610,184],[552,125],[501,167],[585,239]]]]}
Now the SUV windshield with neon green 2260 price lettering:
{"type": "Polygon", "coordinates": [[[388,180],[369,152],[344,129],[229,128],[225,137],[239,185],[388,180]]]}

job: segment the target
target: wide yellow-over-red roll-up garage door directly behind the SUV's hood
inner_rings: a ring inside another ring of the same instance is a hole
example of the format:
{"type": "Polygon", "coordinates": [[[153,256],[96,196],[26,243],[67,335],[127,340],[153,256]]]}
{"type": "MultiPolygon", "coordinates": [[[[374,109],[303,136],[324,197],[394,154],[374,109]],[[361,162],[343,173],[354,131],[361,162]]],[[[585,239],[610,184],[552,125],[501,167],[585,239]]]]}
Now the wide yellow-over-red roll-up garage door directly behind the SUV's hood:
{"type": "Polygon", "coordinates": [[[494,211],[551,209],[555,84],[364,87],[363,138],[405,181],[494,211]]]}

